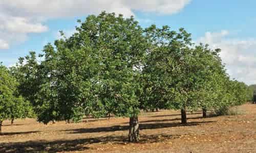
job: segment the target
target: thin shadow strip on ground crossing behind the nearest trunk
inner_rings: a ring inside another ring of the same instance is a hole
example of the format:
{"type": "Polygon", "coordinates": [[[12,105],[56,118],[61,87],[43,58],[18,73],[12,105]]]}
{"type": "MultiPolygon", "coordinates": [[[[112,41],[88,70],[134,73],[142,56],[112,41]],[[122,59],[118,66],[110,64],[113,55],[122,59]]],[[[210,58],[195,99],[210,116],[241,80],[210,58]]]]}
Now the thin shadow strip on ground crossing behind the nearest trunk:
{"type": "MultiPolygon", "coordinates": [[[[204,123],[212,123],[216,121],[200,121],[200,122],[188,122],[186,124],[181,124],[180,122],[174,123],[143,123],[140,124],[140,130],[146,129],[161,129],[166,127],[177,127],[177,126],[196,126],[204,123]]],[[[81,128],[81,129],[73,129],[73,130],[63,130],[68,133],[96,133],[96,132],[115,132],[115,131],[127,131],[129,130],[129,125],[116,125],[109,127],[96,127],[96,128],[81,128]]]]}

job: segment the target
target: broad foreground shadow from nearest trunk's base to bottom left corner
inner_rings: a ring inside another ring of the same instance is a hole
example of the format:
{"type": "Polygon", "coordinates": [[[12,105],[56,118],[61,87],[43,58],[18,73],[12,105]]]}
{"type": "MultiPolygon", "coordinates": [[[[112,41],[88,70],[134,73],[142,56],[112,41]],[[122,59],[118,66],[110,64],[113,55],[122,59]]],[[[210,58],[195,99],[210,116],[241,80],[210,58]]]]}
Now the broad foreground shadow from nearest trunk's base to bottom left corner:
{"type": "MultiPolygon", "coordinates": [[[[154,143],[161,142],[166,139],[177,139],[180,135],[140,135],[140,140],[137,143],[154,143]]],[[[101,144],[119,144],[127,143],[126,136],[102,136],[96,138],[74,139],[74,140],[55,140],[55,141],[27,141],[15,143],[0,144],[0,152],[62,152],[62,151],[83,151],[90,147],[87,145],[94,143],[101,144]]]]}

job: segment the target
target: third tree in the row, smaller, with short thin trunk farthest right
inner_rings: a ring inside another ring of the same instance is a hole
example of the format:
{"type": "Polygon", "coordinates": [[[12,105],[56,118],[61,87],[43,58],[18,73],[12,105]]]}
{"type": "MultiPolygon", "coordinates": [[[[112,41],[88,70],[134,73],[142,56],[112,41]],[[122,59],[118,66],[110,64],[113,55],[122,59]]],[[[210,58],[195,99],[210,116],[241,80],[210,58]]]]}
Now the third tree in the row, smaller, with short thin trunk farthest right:
{"type": "MultiPolygon", "coordinates": [[[[207,116],[207,110],[214,109],[219,105],[222,96],[225,94],[223,91],[223,83],[226,81],[227,73],[224,65],[222,64],[219,53],[221,49],[211,50],[208,45],[200,44],[196,46],[200,50],[200,59],[202,63],[201,81],[198,83],[198,90],[196,92],[196,100],[202,108],[203,117],[207,116]]],[[[199,60],[198,60],[199,61],[199,60]]]]}

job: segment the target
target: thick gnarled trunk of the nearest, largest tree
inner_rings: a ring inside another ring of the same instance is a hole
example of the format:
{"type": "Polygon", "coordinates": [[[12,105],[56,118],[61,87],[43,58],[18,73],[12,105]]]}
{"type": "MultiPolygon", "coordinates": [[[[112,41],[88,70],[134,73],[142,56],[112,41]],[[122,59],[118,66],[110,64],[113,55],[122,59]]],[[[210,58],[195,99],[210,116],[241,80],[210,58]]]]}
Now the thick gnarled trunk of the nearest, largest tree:
{"type": "Polygon", "coordinates": [[[129,141],[139,141],[139,120],[137,117],[130,117],[130,130],[129,130],[129,141]]]}

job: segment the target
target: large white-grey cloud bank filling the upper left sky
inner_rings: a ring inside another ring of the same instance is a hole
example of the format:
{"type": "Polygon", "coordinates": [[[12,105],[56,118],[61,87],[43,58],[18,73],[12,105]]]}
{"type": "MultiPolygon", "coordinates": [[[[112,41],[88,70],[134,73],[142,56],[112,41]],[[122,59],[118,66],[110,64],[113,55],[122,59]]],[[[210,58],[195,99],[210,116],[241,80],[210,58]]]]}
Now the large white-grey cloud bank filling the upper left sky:
{"type": "MultiPolygon", "coordinates": [[[[10,45],[25,41],[28,33],[48,30],[43,21],[51,18],[84,16],[107,12],[121,13],[125,17],[134,11],[173,14],[191,0],[0,0],[0,39],[10,45]],[[18,39],[18,40],[17,40],[18,39]]],[[[2,47],[8,48],[8,47],[2,47]]],[[[1,48],[0,48],[1,49],[1,48]]]]}

